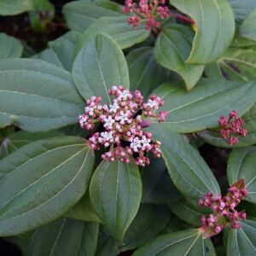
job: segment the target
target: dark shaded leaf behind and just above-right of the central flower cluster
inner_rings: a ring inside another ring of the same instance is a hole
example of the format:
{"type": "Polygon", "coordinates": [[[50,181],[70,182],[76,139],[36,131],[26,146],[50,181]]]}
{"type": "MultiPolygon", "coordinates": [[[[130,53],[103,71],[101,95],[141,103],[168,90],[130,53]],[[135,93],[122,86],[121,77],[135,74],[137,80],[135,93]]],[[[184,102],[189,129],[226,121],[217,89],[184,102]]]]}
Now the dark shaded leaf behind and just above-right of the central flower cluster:
{"type": "Polygon", "coordinates": [[[153,48],[144,46],[126,56],[129,67],[131,90],[141,90],[143,96],[154,90],[159,84],[166,82],[170,72],[154,61],[153,48]]]}

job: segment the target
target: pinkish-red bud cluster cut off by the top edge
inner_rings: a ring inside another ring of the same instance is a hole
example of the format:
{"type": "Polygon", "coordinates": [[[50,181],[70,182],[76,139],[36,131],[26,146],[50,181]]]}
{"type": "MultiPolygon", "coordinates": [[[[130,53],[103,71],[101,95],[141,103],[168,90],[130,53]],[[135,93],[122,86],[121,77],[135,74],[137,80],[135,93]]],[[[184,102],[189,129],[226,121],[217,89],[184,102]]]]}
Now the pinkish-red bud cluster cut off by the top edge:
{"type": "Polygon", "coordinates": [[[145,28],[149,31],[160,28],[160,22],[157,19],[166,19],[169,17],[169,9],[164,6],[166,0],[140,0],[135,3],[134,0],[126,0],[123,9],[125,14],[133,13],[127,19],[127,23],[137,28],[141,21],[145,20],[145,28]]]}

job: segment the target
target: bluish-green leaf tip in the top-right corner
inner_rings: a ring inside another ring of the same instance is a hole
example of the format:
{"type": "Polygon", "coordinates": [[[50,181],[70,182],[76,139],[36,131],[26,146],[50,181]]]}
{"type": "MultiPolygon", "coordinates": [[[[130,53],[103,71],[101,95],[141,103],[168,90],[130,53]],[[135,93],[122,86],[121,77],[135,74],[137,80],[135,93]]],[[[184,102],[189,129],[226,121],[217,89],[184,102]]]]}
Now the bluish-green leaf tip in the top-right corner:
{"type": "Polygon", "coordinates": [[[236,20],[239,22],[244,20],[253,8],[256,8],[254,0],[229,0],[229,3],[234,11],[236,20]]]}

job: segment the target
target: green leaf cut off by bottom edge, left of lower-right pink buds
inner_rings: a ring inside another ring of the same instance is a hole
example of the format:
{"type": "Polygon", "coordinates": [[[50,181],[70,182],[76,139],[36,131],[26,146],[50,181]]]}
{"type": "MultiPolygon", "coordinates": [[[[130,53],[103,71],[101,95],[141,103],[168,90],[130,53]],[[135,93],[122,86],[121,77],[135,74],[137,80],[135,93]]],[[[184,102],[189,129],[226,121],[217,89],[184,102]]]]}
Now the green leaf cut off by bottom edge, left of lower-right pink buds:
{"type": "Polygon", "coordinates": [[[132,256],[216,255],[212,241],[203,239],[199,230],[183,230],[158,236],[139,248],[132,256]]]}

